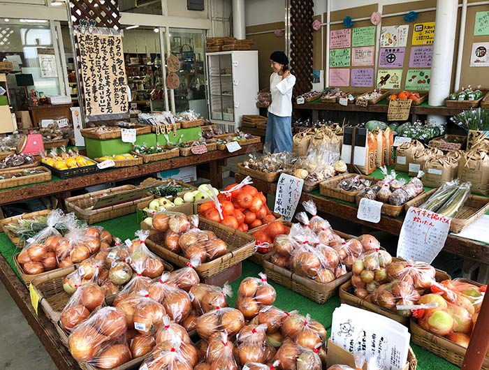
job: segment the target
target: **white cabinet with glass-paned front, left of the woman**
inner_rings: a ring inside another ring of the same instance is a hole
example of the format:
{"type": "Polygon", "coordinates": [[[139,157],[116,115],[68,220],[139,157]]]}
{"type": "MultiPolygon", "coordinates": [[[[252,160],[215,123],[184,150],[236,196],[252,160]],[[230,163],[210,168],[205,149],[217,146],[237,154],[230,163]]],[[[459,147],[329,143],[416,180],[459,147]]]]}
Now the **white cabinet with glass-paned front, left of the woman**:
{"type": "Polygon", "coordinates": [[[207,53],[210,119],[235,132],[243,114],[258,114],[258,51],[207,53]]]}

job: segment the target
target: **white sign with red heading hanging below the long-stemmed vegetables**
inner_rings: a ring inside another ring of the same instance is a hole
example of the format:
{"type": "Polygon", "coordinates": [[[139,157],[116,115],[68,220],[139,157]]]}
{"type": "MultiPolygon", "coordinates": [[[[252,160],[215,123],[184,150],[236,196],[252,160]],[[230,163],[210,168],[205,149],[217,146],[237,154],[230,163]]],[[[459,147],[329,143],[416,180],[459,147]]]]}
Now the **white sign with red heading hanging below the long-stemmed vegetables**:
{"type": "Polygon", "coordinates": [[[431,263],[445,245],[450,217],[410,207],[402,223],[397,257],[431,263]]]}

